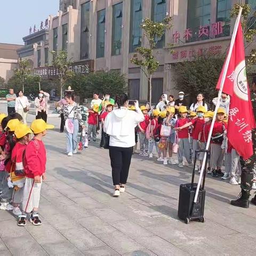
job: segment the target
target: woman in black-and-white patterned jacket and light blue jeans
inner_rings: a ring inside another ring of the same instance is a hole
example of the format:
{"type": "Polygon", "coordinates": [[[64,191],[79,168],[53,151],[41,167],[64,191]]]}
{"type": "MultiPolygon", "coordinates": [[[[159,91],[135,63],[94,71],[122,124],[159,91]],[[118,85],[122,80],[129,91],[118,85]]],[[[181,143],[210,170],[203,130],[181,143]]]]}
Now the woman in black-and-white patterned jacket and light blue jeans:
{"type": "Polygon", "coordinates": [[[58,112],[63,114],[65,120],[68,156],[73,156],[73,154],[77,153],[77,133],[79,124],[84,128],[82,107],[74,101],[74,95],[72,93],[68,92],[64,98],[67,101],[67,105],[63,105],[63,108],[58,112]]]}

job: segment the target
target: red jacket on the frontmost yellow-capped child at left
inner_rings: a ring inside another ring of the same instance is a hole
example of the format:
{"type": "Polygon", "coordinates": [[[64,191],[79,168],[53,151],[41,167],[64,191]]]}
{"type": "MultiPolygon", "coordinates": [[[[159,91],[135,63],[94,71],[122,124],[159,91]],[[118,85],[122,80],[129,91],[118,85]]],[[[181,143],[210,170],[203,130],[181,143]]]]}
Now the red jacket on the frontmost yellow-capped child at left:
{"type": "Polygon", "coordinates": [[[33,139],[29,141],[25,153],[26,177],[34,179],[35,176],[45,173],[46,150],[42,140],[33,139]],[[35,140],[35,141],[33,141],[35,140]]]}

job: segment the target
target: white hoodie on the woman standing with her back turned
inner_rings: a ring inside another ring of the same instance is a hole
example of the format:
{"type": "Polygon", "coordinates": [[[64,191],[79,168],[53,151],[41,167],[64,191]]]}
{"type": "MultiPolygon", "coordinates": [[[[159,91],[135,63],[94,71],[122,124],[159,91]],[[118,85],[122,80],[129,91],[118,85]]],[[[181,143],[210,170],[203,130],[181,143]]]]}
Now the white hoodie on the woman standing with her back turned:
{"type": "Polygon", "coordinates": [[[104,131],[110,135],[109,146],[130,148],[135,145],[134,128],[145,119],[139,108],[136,111],[121,107],[107,115],[104,131]]]}

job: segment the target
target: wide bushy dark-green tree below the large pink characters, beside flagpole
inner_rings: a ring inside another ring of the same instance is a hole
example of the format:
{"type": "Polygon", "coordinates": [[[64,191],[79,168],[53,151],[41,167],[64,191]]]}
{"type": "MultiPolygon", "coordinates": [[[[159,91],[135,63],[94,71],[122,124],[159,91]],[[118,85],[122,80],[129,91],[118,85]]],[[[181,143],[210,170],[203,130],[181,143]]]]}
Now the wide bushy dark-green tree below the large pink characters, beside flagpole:
{"type": "Polygon", "coordinates": [[[189,92],[196,98],[203,93],[211,101],[216,95],[216,84],[224,63],[224,55],[204,54],[196,56],[193,61],[175,63],[175,89],[189,92]]]}

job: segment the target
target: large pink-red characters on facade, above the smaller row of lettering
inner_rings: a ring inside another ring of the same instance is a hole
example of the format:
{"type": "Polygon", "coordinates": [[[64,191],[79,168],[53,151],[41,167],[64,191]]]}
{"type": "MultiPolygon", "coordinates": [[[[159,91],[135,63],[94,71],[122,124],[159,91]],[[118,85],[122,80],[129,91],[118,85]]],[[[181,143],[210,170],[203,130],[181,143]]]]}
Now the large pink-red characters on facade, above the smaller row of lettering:
{"type": "MultiPolygon", "coordinates": [[[[196,34],[198,35],[198,39],[202,38],[203,36],[209,38],[221,36],[223,35],[222,21],[215,22],[210,25],[200,26],[196,34]]],[[[179,43],[180,41],[182,42],[182,40],[185,40],[185,42],[189,42],[191,38],[193,38],[193,31],[191,28],[187,28],[185,31],[183,31],[182,34],[178,31],[175,31],[175,33],[172,35],[173,43],[179,43]]]]}

